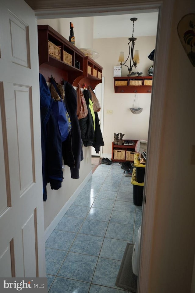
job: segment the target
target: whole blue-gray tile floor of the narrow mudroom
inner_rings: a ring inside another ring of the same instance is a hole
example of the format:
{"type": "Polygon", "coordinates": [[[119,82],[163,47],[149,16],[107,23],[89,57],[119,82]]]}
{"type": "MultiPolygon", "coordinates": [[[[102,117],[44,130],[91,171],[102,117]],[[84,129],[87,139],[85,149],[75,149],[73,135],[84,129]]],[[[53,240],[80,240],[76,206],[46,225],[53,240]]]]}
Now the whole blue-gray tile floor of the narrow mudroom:
{"type": "Polygon", "coordinates": [[[118,163],[98,165],[45,243],[49,293],[125,293],[115,286],[142,207],[118,163]]]}

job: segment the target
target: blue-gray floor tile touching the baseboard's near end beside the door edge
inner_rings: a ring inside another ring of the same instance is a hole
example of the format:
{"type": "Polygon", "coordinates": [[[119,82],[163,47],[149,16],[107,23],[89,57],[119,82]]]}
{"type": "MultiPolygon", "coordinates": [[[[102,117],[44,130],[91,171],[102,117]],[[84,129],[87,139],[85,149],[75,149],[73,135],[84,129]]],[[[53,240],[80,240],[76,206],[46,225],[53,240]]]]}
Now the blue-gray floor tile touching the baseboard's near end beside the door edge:
{"type": "Polygon", "coordinates": [[[76,233],[54,230],[45,242],[46,248],[69,250],[76,233]]]}

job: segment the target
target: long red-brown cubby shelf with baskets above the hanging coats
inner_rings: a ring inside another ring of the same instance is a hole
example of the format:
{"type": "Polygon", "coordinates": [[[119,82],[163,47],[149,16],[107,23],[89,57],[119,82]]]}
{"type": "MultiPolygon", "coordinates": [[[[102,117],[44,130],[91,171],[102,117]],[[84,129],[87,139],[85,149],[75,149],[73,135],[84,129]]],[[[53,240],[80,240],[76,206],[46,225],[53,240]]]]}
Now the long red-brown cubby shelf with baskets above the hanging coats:
{"type": "Polygon", "coordinates": [[[86,57],[49,25],[38,25],[38,49],[39,71],[46,81],[53,75],[57,82],[64,78],[74,86],[85,83],[93,89],[101,83],[103,67],[86,57]],[[91,67],[91,74],[88,74],[87,66],[91,67]]]}

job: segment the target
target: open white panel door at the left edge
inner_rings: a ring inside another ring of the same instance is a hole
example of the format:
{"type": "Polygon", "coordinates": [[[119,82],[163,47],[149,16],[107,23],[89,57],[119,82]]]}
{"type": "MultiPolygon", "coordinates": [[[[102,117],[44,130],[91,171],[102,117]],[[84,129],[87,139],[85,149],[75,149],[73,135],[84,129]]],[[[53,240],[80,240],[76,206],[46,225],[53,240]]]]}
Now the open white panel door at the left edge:
{"type": "Polygon", "coordinates": [[[44,277],[37,21],[0,4],[0,277],[44,277]]]}

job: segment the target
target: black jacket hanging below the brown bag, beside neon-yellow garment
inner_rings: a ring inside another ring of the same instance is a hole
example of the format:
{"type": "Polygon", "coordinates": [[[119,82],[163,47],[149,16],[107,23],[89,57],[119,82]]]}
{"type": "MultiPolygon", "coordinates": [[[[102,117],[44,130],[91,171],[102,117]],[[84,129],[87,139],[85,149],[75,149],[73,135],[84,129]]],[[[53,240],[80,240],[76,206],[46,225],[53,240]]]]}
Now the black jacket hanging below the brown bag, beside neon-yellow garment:
{"type": "Polygon", "coordinates": [[[94,143],[95,139],[95,130],[94,130],[94,119],[91,114],[91,109],[89,107],[90,105],[90,97],[89,97],[89,91],[83,90],[83,96],[85,98],[86,104],[87,104],[87,110],[88,114],[86,118],[79,120],[80,130],[81,130],[81,138],[83,140],[83,144],[85,147],[90,147],[94,143]]]}

